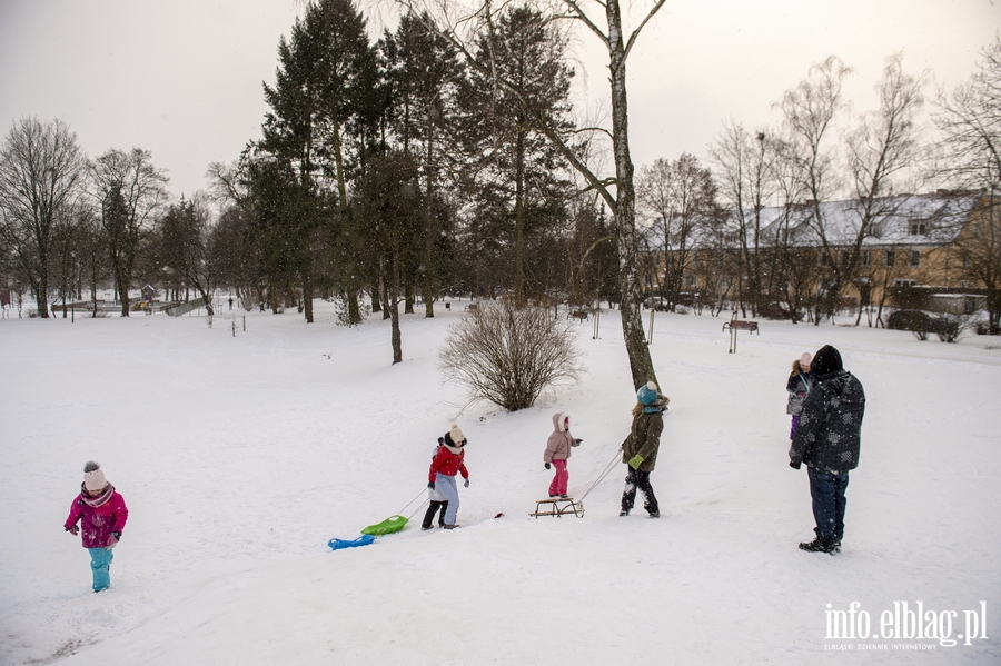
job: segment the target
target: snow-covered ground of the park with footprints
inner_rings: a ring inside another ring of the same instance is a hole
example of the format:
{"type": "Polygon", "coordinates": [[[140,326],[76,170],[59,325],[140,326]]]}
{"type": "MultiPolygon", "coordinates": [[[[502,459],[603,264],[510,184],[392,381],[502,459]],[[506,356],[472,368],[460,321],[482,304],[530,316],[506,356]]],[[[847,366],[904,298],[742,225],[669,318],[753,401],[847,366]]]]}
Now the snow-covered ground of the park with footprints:
{"type": "Polygon", "coordinates": [[[722,319],[658,314],[663,517],[618,517],[617,465],[583,518],[533,519],[553,412],[584,438],[578,497],[627,431],[617,312],[597,340],[578,325],[578,386],[506,414],[437,369],[460,310],[403,317],[397,366],[388,322],[338,327],[323,301],[314,325],[255,312],[244,331],[239,314],[235,337],[228,311],[212,328],[0,320],[0,664],[1001,663],[1001,339],[763,321],[731,355],[722,319]],[[836,557],[796,548],[813,519],[786,457],[789,366],[824,344],[868,395],[836,557]],[[418,507],[454,419],[464,528],[422,533],[418,515],[330,550],[418,507]],[[88,459],[131,511],[100,595],[62,530],[88,459]],[[853,602],[871,635],[830,638],[853,602]],[[895,637],[895,610],[919,602],[948,639],[895,637]],[[984,609],[985,629],[959,638],[984,609]]]}

